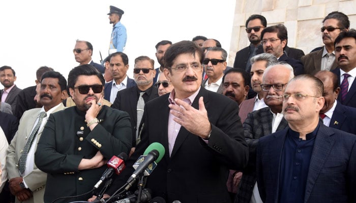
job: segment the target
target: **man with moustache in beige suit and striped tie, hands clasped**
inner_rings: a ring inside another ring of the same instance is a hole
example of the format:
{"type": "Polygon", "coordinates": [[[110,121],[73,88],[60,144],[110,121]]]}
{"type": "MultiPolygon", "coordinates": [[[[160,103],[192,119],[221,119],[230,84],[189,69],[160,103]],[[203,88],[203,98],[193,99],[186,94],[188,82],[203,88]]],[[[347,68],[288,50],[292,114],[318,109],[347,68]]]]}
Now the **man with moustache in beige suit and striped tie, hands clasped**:
{"type": "Polygon", "coordinates": [[[67,80],[58,72],[43,74],[40,88],[42,108],[31,109],[21,117],[18,130],[7,150],[6,168],[10,191],[16,202],[43,202],[47,174],[35,164],[35,151],[51,113],[65,109],[67,80]]]}

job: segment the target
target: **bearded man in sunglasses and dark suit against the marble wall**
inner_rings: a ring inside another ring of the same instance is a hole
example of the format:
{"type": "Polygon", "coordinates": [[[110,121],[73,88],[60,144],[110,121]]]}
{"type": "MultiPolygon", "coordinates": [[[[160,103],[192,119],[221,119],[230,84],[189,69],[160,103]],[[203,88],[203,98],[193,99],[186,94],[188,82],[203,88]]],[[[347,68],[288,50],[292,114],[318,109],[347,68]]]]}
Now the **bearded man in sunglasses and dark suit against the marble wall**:
{"type": "Polygon", "coordinates": [[[254,14],[246,20],[247,37],[249,38],[251,44],[236,53],[233,67],[243,69],[247,73],[250,73],[250,58],[257,54],[263,53],[261,45],[261,31],[266,26],[267,20],[261,15],[254,14]]]}

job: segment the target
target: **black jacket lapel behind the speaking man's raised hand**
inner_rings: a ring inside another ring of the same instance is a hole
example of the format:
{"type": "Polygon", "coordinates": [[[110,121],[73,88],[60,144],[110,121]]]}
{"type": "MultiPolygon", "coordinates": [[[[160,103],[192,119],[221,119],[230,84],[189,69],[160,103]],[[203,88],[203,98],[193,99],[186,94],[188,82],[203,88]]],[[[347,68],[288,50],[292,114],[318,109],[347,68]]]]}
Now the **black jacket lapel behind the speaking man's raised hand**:
{"type": "MultiPolygon", "coordinates": [[[[205,91],[209,91],[209,90],[205,90],[203,87],[200,87],[200,91],[196,95],[196,97],[192,103],[192,107],[194,107],[195,109],[199,109],[199,103],[198,103],[199,97],[203,96],[205,109],[206,110],[208,109],[209,98],[208,98],[207,94],[205,93],[205,91]]],[[[209,118],[209,113],[207,114],[207,117],[209,118]]],[[[170,157],[174,156],[174,154],[177,152],[177,150],[180,148],[180,146],[183,144],[183,142],[187,139],[189,133],[190,132],[185,127],[181,126],[181,129],[178,132],[177,138],[175,139],[172,154],[170,155],[170,157]]],[[[195,135],[193,135],[193,136],[195,136],[195,135]]],[[[168,143],[168,141],[167,141],[167,143],[168,143]]]]}

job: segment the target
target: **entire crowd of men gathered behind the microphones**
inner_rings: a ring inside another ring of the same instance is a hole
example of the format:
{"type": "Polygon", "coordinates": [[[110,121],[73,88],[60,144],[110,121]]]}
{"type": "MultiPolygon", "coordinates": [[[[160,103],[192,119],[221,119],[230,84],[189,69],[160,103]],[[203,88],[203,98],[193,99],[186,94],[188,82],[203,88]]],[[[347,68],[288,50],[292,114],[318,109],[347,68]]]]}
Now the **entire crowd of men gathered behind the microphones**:
{"type": "Polygon", "coordinates": [[[21,90],[16,68],[0,67],[1,202],[94,201],[103,187],[109,197],[156,142],[165,152],[143,185],[166,202],[356,202],[356,30],[345,14],[322,20],[324,46],[307,55],[287,46],[283,24],[251,15],[233,67],[216,39],[162,40],[159,65],[136,57],[133,79],[123,14],[110,6],[104,65],[78,40],[67,79],[42,66],[21,90]],[[125,170],[89,192],[120,153],[125,170]]]}

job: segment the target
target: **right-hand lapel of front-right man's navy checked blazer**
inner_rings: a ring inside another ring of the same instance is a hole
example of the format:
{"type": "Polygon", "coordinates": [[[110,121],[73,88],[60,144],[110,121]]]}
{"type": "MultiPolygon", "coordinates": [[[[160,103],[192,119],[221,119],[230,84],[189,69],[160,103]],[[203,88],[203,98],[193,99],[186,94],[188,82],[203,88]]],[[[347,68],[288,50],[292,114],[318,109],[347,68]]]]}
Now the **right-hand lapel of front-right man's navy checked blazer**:
{"type": "Polygon", "coordinates": [[[307,184],[305,187],[304,202],[308,202],[311,191],[313,190],[315,181],[319,176],[322,166],[327,160],[327,157],[334,145],[335,139],[332,136],[334,133],[328,130],[328,127],[320,123],[319,130],[315,137],[312,156],[310,159],[307,184]]]}

